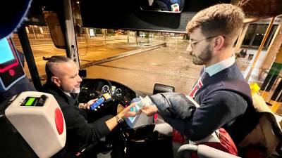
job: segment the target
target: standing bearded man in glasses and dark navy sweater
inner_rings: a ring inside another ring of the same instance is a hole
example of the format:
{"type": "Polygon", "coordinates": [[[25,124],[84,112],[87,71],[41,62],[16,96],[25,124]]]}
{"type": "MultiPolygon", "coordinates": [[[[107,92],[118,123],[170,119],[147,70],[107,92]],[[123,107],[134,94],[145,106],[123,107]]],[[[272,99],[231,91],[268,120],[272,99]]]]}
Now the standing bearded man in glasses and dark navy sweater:
{"type": "MultiPolygon", "coordinates": [[[[252,107],[250,88],[235,63],[233,44],[243,27],[244,13],[237,6],[218,4],[197,13],[186,27],[187,48],[195,65],[203,65],[189,96],[200,105],[190,119],[165,117],[189,140],[206,138],[223,127],[238,145],[254,129],[259,116],[252,107]]],[[[174,107],[176,108],[176,107],[174,107]]],[[[164,107],[147,105],[147,115],[164,107]]]]}

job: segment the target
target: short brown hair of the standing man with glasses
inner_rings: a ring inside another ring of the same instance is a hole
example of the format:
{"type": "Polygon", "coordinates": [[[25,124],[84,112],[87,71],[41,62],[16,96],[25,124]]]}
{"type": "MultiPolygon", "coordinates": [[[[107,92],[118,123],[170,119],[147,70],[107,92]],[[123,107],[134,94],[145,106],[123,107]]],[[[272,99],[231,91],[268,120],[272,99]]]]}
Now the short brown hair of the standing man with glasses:
{"type": "Polygon", "coordinates": [[[243,27],[245,15],[241,8],[232,4],[217,4],[198,12],[190,22],[186,31],[200,28],[204,37],[224,36],[228,39],[237,37],[243,27]]]}

